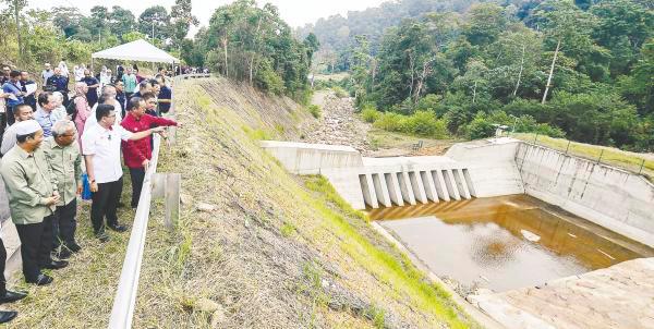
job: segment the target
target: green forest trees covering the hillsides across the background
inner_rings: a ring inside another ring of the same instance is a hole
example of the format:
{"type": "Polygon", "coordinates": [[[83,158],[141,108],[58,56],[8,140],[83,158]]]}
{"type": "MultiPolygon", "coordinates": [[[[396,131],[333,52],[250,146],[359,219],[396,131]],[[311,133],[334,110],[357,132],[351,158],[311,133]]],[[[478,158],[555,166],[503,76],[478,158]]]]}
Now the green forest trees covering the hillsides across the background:
{"type": "Polygon", "coordinates": [[[3,64],[40,71],[145,38],[183,60],[306,103],[312,73],[341,83],[386,130],[480,138],[496,125],[654,150],[649,0],[403,0],[293,31],[271,4],[219,7],[193,38],[191,0],[138,15],[118,5],[0,1],[3,64]],[[17,33],[20,32],[20,33],[17,33]]]}

